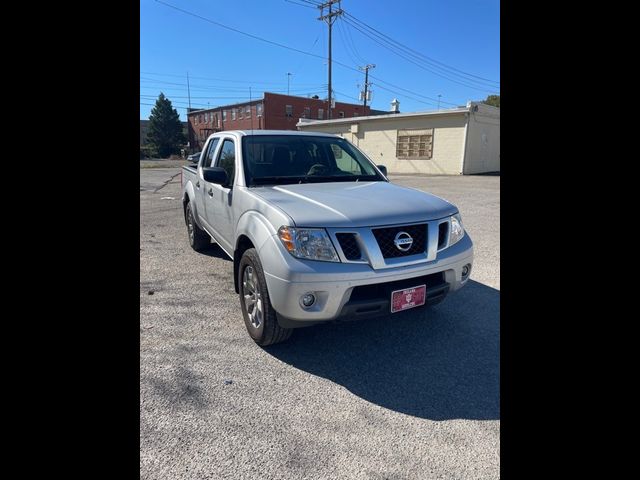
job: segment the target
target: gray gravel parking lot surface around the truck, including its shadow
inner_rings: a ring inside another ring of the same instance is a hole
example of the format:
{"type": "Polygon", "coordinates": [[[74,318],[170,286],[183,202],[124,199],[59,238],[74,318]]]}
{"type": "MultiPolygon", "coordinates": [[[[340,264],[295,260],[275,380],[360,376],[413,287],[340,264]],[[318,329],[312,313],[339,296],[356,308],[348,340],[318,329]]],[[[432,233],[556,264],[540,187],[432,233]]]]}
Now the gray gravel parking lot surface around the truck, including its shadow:
{"type": "Polygon", "coordinates": [[[263,349],[232,262],[189,247],[180,169],[141,168],[142,479],[499,478],[500,177],[391,179],[458,205],[470,283],[263,349]]]}

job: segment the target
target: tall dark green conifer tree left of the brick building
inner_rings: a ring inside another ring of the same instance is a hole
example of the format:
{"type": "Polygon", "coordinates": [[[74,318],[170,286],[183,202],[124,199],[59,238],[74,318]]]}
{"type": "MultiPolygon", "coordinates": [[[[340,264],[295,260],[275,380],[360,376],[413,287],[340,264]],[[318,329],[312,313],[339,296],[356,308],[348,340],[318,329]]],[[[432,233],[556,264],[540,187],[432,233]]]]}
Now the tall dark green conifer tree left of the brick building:
{"type": "Polygon", "coordinates": [[[156,105],[151,109],[147,139],[162,158],[178,153],[185,143],[178,111],[164,93],[160,93],[156,105]]]}

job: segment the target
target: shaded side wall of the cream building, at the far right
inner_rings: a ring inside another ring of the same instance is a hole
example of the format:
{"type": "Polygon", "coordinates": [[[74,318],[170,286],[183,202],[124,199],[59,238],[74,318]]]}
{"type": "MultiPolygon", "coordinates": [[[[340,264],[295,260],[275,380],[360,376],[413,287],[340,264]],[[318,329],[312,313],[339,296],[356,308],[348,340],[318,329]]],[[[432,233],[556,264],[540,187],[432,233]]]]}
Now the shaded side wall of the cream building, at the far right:
{"type": "Polygon", "coordinates": [[[464,174],[499,171],[500,109],[479,104],[478,111],[470,113],[464,174]]]}

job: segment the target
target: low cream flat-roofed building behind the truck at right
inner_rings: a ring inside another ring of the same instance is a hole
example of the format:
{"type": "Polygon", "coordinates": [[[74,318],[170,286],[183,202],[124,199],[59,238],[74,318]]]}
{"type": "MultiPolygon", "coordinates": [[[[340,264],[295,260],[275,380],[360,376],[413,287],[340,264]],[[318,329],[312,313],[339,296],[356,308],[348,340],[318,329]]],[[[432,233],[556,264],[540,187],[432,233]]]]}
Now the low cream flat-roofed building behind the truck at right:
{"type": "MultiPolygon", "coordinates": [[[[397,102],[396,102],[397,104],[397,102]]],[[[389,173],[468,175],[500,171],[500,109],[465,107],[333,120],[300,119],[298,130],[334,133],[389,173]]]]}

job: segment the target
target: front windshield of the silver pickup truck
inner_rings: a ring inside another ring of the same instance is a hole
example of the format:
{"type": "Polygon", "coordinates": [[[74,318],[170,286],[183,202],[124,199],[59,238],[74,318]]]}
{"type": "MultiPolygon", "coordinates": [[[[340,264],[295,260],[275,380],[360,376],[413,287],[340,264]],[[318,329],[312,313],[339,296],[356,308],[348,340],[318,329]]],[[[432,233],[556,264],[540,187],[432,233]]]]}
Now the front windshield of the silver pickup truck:
{"type": "Polygon", "coordinates": [[[384,181],[357,148],[339,137],[245,136],[242,158],[247,186],[384,181]]]}

